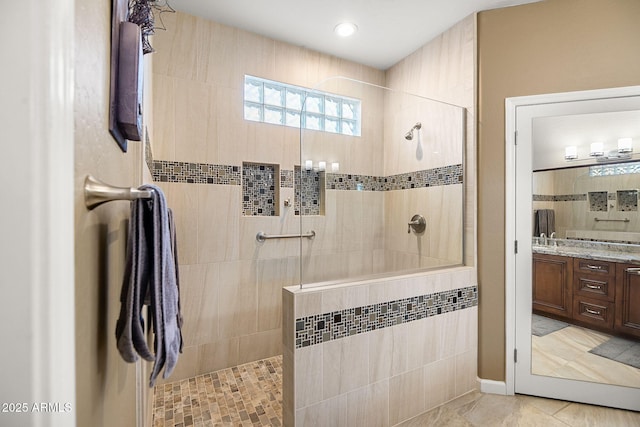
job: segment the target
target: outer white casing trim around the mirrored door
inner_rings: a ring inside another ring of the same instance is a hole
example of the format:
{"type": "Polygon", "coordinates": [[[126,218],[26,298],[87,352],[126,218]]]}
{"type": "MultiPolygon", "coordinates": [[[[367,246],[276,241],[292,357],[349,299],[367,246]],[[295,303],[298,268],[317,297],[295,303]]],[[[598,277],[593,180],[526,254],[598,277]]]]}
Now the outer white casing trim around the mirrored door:
{"type": "MultiPolygon", "coordinates": [[[[582,92],[566,92],[558,94],[545,94],[524,96],[516,98],[508,98],[505,100],[505,268],[506,268],[506,288],[505,288],[505,323],[506,323],[506,336],[505,336],[505,350],[506,350],[506,388],[508,394],[514,394],[515,392],[515,362],[514,351],[516,349],[516,267],[518,257],[513,250],[514,242],[518,239],[518,230],[516,230],[516,206],[518,203],[517,198],[522,200],[525,195],[516,196],[516,134],[517,120],[518,120],[518,108],[519,107],[534,107],[543,106],[545,104],[560,104],[576,101],[597,100],[605,98],[622,98],[628,96],[634,96],[640,94],[640,86],[625,87],[625,88],[613,88],[602,90],[591,90],[582,92]]],[[[530,197],[531,195],[528,195],[530,197]]],[[[524,236],[530,233],[525,233],[524,236]]],[[[522,234],[520,234],[523,238],[522,234]]],[[[526,238],[526,237],[525,237],[526,238]]],[[[530,237],[528,238],[531,239],[530,237]]],[[[524,242],[520,242],[520,247],[525,247],[524,242]]],[[[527,242],[527,244],[530,242],[527,242]]],[[[530,246],[529,246],[530,247],[530,246]]],[[[530,253],[530,249],[529,249],[530,253]]],[[[526,255],[526,251],[520,251],[521,255],[526,255]],[[524,252],[524,253],[523,253],[524,252]]],[[[522,258],[522,257],[520,257],[522,258]]],[[[566,381],[567,383],[569,381],[566,381]]],[[[593,384],[596,388],[602,388],[602,393],[606,393],[604,390],[608,386],[601,384],[593,384]]],[[[577,393],[582,394],[582,393],[577,393]]],[[[586,398],[588,401],[588,398],[586,398]]],[[[602,401],[594,401],[596,404],[607,404],[602,401]]],[[[617,402],[616,402],[617,403],[617,402]]],[[[622,404],[622,403],[621,403],[622,404]]],[[[637,405],[636,402],[630,402],[629,405],[637,405]]],[[[614,406],[614,405],[612,405],[614,406]]]]}

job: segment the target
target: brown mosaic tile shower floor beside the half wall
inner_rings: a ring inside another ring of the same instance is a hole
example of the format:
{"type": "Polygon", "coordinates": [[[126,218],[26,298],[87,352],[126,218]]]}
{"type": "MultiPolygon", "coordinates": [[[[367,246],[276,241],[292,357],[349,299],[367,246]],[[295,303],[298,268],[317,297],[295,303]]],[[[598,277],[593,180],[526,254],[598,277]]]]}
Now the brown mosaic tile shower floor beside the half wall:
{"type": "Polygon", "coordinates": [[[153,427],[282,425],[282,356],[161,384],[153,427]]]}

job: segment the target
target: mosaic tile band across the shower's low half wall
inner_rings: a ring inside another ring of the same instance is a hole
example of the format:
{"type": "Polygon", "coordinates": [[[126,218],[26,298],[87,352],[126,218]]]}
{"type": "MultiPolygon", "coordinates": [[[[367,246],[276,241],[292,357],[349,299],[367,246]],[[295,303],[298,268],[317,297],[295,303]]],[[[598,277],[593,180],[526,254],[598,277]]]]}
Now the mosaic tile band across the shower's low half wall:
{"type": "Polygon", "coordinates": [[[453,289],[401,300],[301,317],[295,322],[296,348],[388,328],[478,305],[478,287],[453,289]]]}

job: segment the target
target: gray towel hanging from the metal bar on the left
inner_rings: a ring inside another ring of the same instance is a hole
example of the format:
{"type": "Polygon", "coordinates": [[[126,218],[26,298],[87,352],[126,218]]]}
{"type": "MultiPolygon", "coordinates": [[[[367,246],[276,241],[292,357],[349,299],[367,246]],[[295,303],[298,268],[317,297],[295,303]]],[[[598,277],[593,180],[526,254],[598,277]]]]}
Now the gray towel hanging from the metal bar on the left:
{"type": "Polygon", "coordinates": [[[129,247],[116,338],[125,361],[135,362],[136,352],[154,361],[149,379],[149,386],[153,387],[162,368],[163,377],[167,378],[178,361],[182,350],[182,318],[173,216],[159,187],[143,185],[140,189],[152,190],[151,199],[131,202],[129,247]],[[142,325],[145,300],[151,309],[155,354],[147,346],[142,325]]]}

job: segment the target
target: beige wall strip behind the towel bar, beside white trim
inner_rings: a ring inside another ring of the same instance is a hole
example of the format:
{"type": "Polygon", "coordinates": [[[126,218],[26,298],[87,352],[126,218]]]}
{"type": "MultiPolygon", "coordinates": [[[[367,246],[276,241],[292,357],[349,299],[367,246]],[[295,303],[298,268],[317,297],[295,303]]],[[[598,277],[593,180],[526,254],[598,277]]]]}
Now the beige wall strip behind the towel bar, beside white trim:
{"type": "MultiPolygon", "coordinates": [[[[136,422],[136,369],[120,357],[114,333],[120,311],[129,203],[112,202],[87,211],[83,193],[87,174],[117,186],[141,184],[141,144],[130,142],[124,154],[108,131],[110,17],[111,1],[76,1],[75,322],[79,426],[133,426],[136,422]]],[[[143,392],[148,396],[146,387],[143,392]]]]}

